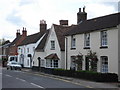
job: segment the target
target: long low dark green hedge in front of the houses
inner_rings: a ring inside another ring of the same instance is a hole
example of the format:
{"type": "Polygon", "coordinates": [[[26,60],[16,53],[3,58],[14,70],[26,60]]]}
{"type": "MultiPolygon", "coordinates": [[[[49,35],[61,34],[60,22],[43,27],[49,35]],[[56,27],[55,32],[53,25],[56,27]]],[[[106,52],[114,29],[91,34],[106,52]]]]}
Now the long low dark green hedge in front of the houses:
{"type": "MultiPolygon", "coordinates": [[[[35,70],[35,67],[32,68],[35,70]]],[[[74,70],[64,70],[64,69],[50,69],[50,68],[41,68],[44,73],[73,77],[79,79],[85,79],[96,82],[118,82],[118,75],[115,73],[99,73],[93,71],[74,71],[74,70]]]]}

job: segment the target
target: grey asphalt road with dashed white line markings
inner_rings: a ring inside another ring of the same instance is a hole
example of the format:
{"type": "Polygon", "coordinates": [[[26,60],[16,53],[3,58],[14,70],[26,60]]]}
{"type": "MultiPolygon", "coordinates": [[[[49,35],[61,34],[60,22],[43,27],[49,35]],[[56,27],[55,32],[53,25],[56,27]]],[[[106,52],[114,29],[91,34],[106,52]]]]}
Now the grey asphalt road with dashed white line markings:
{"type": "MultiPolygon", "coordinates": [[[[48,76],[16,70],[2,70],[2,88],[86,88],[71,82],[57,80],[48,76]]],[[[90,88],[88,88],[90,90],[90,88]]]]}

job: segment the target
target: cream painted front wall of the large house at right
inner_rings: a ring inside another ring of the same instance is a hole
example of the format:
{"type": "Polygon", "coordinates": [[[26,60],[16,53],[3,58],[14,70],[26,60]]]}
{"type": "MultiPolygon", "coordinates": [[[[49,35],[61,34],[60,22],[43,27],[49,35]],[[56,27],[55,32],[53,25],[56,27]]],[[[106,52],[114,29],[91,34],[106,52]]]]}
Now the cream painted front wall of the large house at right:
{"type": "MultiPolygon", "coordinates": [[[[97,71],[101,71],[101,63],[100,56],[108,56],[109,58],[109,72],[118,74],[118,29],[112,28],[108,30],[108,48],[100,49],[100,31],[91,32],[90,33],[90,50],[97,53],[98,56],[98,69],[97,71]]],[[[71,56],[78,55],[79,52],[84,56],[87,55],[88,49],[84,48],[84,34],[75,35],[76,37],[76,49],[71,50],[71,36],[67,36],[68,38],[68,53],[67,53],[67,69],[70,69],[71,56]]],[[[65,54],[66,55],[66,54],[65,54]]],[[[85,60],[85,57],[84,57],[85,60]]],[[[83,61],[83,70],[85,70],[85,61],[83,61]]]]}

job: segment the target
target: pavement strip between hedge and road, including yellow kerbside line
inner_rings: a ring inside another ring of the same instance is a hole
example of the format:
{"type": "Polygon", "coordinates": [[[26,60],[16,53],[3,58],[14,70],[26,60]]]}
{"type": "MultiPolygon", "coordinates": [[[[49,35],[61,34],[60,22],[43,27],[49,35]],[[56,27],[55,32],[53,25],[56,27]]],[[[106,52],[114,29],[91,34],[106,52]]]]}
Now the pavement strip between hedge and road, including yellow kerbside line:
{"type": "Polygon", "coordinates": [[[46,74],[43,72],[38,72],[38,71],[32,71],[31,69],[26,69],[23,68],[22,71],[24,72],[28,72],[28,73],[32,73],[32,74],[36,74],[36,75],[41,75],[41,76],[47,76],[49,78],[53,78],[53,79],[58,79],[58,80],[62,80],[65,82],[70,82],[70,83],[74,83],[74,84],[78,84],[78,85],[86,85],[89,88],[106,88],[106,89],[117,89],[120,90],[120,82],[93,82],[93,81],[87,81],[87,80],[82,80],[82,79],[77,79],[77,78],[71,78],[71,77],[64,77],[64,76],[57,76],[57,75],[52,75],[52,74],[46,74]]]}

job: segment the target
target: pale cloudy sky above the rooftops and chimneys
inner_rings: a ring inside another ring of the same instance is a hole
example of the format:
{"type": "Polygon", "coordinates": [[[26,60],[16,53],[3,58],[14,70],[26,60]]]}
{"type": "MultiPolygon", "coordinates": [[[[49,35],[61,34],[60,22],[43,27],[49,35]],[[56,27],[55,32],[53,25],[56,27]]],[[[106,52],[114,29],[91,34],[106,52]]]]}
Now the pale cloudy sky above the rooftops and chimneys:
{"type": "Polygon", "coordinates": [[[26,27],[28,35],[39,32],[40,20],[47,28],[59,20],[77,24],[77,12],[85,6],[87,18],[117,13],[119,0],[0,0],[0,38],[12,41],[17,29],[26,27]]]}

